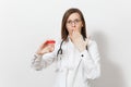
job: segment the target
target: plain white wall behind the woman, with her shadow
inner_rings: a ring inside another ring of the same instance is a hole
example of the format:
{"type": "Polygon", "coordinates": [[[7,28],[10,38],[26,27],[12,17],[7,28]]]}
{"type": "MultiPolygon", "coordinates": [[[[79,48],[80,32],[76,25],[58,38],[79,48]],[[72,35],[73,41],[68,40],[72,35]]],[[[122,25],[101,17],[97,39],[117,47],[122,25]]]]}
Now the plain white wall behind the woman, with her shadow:
{"type": "Polygon", "coordinates": [[[0,87],[51,87],[53,65],[31,67],[38,46],[60,38],[66,10],[82,10],[98,44],[102,76],[95,87],[131,87],[130,0],[0,0],[0,87]]]}

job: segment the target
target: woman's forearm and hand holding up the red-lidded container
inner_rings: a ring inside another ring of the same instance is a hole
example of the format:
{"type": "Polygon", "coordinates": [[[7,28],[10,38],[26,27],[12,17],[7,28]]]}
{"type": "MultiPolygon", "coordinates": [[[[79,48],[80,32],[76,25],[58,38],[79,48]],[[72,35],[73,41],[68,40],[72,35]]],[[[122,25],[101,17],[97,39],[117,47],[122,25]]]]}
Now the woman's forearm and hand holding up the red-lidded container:
{"type": "Polygon", "coordinates": [[[36,71],[40,71],[44,67],[50,65],[57,58],[58,45],[48,45],[47,42],[41,44],[32,62],[32,67],[36,71]]]}

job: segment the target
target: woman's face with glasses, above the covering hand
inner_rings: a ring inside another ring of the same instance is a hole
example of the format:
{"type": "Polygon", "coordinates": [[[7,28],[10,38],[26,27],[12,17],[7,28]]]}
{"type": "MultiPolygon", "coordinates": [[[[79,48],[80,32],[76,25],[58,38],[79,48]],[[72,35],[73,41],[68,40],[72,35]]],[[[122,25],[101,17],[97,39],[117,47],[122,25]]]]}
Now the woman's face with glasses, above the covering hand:
{"type": "Polygon", "coordinates": [[[83,27],[83,24],[79,13],[72,13],[68,17],[66,26],[69,32],[69,35],[71,35],[73,30],[78,30],[81,33],[81,28],[83,27]]]}

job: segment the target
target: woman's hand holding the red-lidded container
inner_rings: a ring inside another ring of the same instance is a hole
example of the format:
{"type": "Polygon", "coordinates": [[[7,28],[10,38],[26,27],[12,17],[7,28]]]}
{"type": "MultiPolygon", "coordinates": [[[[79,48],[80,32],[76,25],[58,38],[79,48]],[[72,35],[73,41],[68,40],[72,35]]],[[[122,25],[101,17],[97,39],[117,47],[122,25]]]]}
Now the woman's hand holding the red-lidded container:
{"type": "Polygon", "coordinates": [[[55,50],[55,44],[47,44],[47,41],[45,41],[39,46],[36,53],[43,55],[45,53],[52,52],[53,50],[55,50]]]}

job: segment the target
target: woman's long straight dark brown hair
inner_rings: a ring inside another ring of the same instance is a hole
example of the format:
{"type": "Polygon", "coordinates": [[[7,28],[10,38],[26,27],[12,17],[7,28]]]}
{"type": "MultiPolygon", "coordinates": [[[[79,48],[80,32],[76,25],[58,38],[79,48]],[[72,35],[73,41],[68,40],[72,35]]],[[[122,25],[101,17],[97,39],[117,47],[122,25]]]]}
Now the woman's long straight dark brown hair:
{"type": "Polygon", "coordinates": [[[66,11],[63,17],[62,17],[62,23],[61,23],[61,39],[62,40],[66,40],[69,33],[68,33],[68,29],[67,29],[67,20],[68,17],[72,14],[72,13],[79,13],[81,20],[82,20],[82,23],[83,23],[83,27],[81,29],[81,34],[83,36],[83,38],[86,38],[86,26],[85,26],[85,21],[84,21],[84,16],[83,16],[83,13],[76,9],[76,8],[71,8],[69,10],[66,11]]]}

